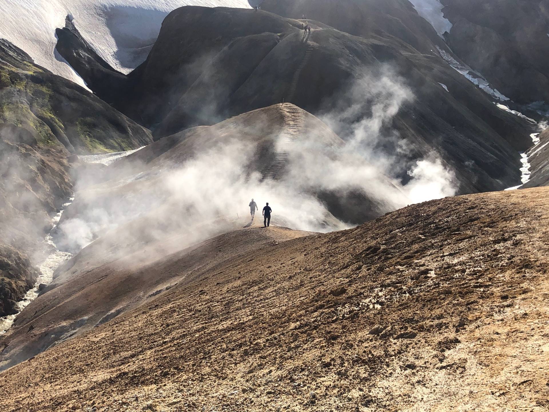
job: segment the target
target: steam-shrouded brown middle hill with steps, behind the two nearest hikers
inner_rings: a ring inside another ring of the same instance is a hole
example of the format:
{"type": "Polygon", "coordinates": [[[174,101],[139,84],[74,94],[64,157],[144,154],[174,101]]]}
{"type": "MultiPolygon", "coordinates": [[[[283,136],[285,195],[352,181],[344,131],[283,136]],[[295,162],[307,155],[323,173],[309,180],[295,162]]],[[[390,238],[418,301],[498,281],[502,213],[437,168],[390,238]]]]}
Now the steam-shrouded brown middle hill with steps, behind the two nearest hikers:
{"type": "MultiPolygon", "coordinates": [[[[221,233],[243,226],[255,232],[262,219],[258,212],[256,220],[249,221],[244,206],[250,193],[260,205],[260,199],[271,202],[273,225],[324,231],[348,227],[347,222],[375,219],[410,202],[406,189],[383,175],[370,176],[369,191],[361,186],[346,191],[316,186],[308,178],[308,185],[295,182],[295,169],[301,171],[298,165],[308,163],[301,157],[304,148],[334,148],[332,157],[337,157],[341,146],[343,141],[320,120],[285,103],[163,138],[114,163],[107,176],[94,174],[99,181],[75,192],[75,200],[65,209],[54,236],[58,247],[70,250],[75,257],[59,267],[53,282],[18,316],[3,338],[3,368],[125,313],[180,280],[171,279],[171,271],[162,279],[148,279],[149,269],[144,268],[171,259],[173,253],[186,247],[187,252],[195,253],[197,243],[221,233]],[[285,135],[292,131],[293,137],[285,135]],[[293,141],[285,143],[282,158],[277,147],[287,138],[293,141]],[[238,152],[246,151],[249,155],[238,156],[238,152]],[[235,169],[227,157],[241,164],[235,169]],[[223,163],[227,176],[219,176],[216,170],[210,176],[210,162],[216,161],[223,163]],[[250,176],[250,180],[233,179],[240,174],[250,176]],[[200,176],[203,195],[195,193],[192,176],[200,176]],[[376,185],[382,190],[374,191],[376,185]],[[81,233],[89,233],[89,237],[81,239],[81,233]],[[147,279],[131,282],[132,286],[119,291],[119,285],[127,281],[128,265],[143,270],[147,279]],[[145,286],[147,282],[150,289],[145,286]],[[82,299],[84,295],[89,299],[82,299]],[[32,337],[27,334],[29,322],[35,331],[32,337]]],[[[319,156],[317,161],[326,160],[319,156]]],[[[253,244],[260,248],[261,242],[253,244]]],[[[239,244],[238,253],[243,254],[253,244],[239,244]]],[[[233,249],[220,250],[234,253],[233,249]]]]}

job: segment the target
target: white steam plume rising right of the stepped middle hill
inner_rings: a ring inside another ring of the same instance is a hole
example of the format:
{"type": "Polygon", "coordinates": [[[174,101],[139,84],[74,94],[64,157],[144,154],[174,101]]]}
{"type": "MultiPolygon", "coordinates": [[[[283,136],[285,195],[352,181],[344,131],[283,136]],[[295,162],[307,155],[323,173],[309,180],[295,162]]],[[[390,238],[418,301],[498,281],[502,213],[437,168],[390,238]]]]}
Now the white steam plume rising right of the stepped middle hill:
{"type": "Polygon", "coordinates": [[[405,163],[403,155],[411,151],[410,144],[391,123],[402,105],[413,102],[413,94],[388,66],[380,73],[362,76],[322,115],[345,144],[328,152],[310,139],[299,140],[292,153],[299,161],[291,163],[284,184],[297,182],[302,191],[313,187],[364,193],[383,205],[380,213],[456,193],[455,174],[435,153],[405,163]],[[405,186],[395,173],[403,166],[411,177],[405,186]]]}

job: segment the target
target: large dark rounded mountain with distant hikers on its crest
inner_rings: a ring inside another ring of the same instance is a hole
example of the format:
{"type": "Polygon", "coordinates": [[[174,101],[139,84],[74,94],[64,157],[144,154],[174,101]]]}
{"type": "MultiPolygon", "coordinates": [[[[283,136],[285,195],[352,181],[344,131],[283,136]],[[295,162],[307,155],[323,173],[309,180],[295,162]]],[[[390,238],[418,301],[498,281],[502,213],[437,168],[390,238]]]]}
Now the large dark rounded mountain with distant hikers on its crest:
{"type": "MultiPolygon", "coordinates": [[[[373,132],[379,136],[376,146],[384,153],[394,153],[395,146],[407,148],[391,177],[406,181],[406,166],[436,153],[456,171],[460,193],[516,185],[516,152],[530,146],[532,124],[497,108],[453,70],[437,52],[436,46],[444,46],[441,39],[411,6],[378,6],[376,25],[384,31],[377,26],[358,31],[355,19],[344,26],[344,16],[354,9],[341,7],[337,19],[328,19],[330,8],[320,17],[356,35],[311,21],[313,30],[306,36],[301,30],[305,21],[262,10],[174,10],[147,60],[120,82],[132,91],[116,107],[152,127],[159,138],[287,101],[328,123],[332,119],[334,132],[350,140],[372,134],[364,130],[372,124],[368,116],[376,112],[371,98],[378,92],[372,87],[385,81],[385,104],[391,110],[383,109],[385,118],[374,121],[383,125],[373,132]],[[396,30],[396,18],[387,10],[413,15],[406,21],[415,23],[396,30]],[[338,120],[342,116],[349,116],[344,124],[338,120]]],[[[69,59],[71,49],[78,57],[85,44],[60,37],[58,49],[69,59]]],[[[92,59],[87,64],[86,59],[81,74],[92,84],[92,67],[102,63],[92,59]]]]}

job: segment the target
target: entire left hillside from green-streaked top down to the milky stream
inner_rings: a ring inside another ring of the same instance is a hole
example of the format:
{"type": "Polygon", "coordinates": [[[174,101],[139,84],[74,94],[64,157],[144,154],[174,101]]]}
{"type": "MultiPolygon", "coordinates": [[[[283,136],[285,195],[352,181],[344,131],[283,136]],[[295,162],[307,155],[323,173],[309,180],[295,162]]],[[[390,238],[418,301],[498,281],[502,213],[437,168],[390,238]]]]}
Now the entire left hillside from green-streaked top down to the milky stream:
{"type": "Polygon", "coordinates": [[[13,313],[36,280],[51,217],[72,194],[71,154],[151,140],[97,96],[0,40],[0,316],[13,313]]]}

